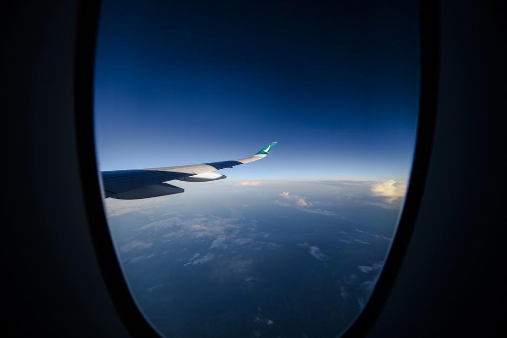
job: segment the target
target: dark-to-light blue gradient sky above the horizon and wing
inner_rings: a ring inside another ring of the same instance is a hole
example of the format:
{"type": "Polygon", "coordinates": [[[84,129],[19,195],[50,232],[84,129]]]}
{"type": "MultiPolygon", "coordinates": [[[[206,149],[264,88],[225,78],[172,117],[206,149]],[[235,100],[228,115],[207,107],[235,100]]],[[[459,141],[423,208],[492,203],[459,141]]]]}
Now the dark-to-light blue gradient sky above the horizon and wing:
{"type": "Polygon", "coordinates": [[[416,2],[102,2],[100,170],[243,158],[233,179],[404,179],[419,100],[416,2]]]}

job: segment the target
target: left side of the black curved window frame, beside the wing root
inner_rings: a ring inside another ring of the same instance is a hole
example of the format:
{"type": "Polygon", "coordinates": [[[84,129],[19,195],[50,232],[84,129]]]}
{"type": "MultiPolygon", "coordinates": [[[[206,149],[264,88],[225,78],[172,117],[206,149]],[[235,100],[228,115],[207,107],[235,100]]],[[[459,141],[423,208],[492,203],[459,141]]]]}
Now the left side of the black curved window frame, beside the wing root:
{"type": "Polygon", "coordinates": [[[93,121],[94,64],[100,1],[81,1],[74,65],[74,104],[81,189],[99,269],[111,301],[134,337],[160,337],[137,308],[123,276],[107,226],[95,157],[93,121]]]}

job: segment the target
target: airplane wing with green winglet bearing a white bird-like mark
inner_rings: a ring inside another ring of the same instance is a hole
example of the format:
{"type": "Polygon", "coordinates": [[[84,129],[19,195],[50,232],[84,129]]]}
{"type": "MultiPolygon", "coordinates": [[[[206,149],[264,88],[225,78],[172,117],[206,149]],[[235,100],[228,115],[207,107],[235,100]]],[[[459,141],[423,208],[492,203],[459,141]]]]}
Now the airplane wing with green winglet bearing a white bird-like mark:
{"type": "Polygon", "coordinates": [[[178,167],[102,171],[104,197],[137,200],[183,193],[184,189],[164,182],[174,179],[188,182],[205,182],[226,178],[227,176],[214,171],[265,158],[275,144],[276,142],[269,143],[253,156],[232,161],[178,167]]]}

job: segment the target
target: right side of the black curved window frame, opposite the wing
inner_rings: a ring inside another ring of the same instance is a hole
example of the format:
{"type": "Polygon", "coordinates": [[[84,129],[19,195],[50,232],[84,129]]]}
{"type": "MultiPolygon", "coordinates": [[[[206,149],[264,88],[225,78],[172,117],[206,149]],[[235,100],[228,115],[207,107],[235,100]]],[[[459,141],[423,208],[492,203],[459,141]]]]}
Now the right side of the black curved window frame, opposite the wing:
{"type": "Polygon", "coordinates": [[[365,308],[341,338],[367,336],[380,315],[400,272],[424,193],[437,115],[439,87],[439,3],[419,1],[420,96],[412,171],[400,221],[377,284],[365,308]]]}

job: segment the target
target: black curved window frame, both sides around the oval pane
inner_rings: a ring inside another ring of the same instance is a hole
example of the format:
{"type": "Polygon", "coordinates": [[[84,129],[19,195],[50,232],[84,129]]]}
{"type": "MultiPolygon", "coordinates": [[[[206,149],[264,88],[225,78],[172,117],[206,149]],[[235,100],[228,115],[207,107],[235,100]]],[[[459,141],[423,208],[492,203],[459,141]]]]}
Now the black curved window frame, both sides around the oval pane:
{"type": "MultiPolygon", "coordinates": [[[[93,85],[100,1],[81,1],[75,47],[75,128],[88,225],[99,269],[123,324],[133,337],[160,337],[138,309],[123,276],[108,230],[95,154],[93,85]]],[[[400,221],[385,265],[365,308],[341,337],[366,336],[382,311],[410,244],[429,167],[439,79],[437,1],[419,2],[420,96],[412,171],[400,221]]]]}

